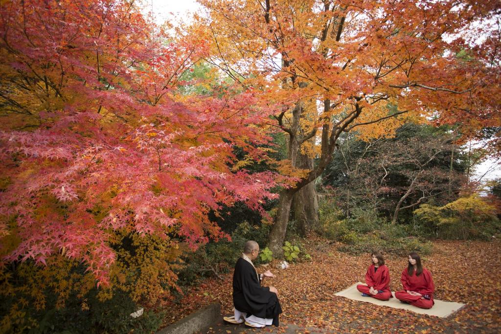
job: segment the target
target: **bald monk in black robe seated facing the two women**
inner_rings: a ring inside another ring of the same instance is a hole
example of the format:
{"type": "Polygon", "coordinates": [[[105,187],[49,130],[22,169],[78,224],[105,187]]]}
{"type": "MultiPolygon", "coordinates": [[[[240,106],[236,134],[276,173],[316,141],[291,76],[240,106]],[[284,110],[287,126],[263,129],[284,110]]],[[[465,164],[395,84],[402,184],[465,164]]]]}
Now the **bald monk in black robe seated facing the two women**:
{"type": "Polygon", "coordinates": [[[274,286],[261,286],[265,277],[274,277],[270,270],[258,274],[253,260],[258,257],[259,245],[256,241],[247,241],[241,257],[236,261],[233,273],[233,317],[224,317],[231,323],[241,323],[250,327],[279,325],[282,307],[278,291],[274,286]],[[243,319],[242,319],[243,317],[243,319]]]}

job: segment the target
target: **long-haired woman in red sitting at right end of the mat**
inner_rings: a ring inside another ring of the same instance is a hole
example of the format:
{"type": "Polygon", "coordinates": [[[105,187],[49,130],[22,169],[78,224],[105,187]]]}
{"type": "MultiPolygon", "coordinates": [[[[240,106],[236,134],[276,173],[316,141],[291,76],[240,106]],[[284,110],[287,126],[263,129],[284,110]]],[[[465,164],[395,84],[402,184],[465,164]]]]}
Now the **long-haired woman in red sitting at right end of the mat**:
{"type": "Polygon", "coordinates": [[[397,299],[421,308],[433,306],[435,285],[431,274],[421,265],[421,258],[415,252],[409,254],[407,269],[402,271],[403,290],[395,292],[397,299]]]}

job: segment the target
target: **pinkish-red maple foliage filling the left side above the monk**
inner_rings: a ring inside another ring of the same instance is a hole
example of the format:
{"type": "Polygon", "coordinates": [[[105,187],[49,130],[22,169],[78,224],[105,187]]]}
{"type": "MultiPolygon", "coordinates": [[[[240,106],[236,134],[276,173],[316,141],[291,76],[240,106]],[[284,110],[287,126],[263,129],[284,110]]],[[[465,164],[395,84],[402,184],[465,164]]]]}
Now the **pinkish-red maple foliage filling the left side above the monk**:
{"type": "Polygon", "coordinates": [[[108,285],[117,230],[196,247],[228,237],[210,211],[276,197],[276,174],[231,169],[235,146],[266,157],[273,106],[174,94],[207,51],[196,32],[169,36],[128,1],[8,0],[0,35],[3,264],[61,253],[108,285]]]}

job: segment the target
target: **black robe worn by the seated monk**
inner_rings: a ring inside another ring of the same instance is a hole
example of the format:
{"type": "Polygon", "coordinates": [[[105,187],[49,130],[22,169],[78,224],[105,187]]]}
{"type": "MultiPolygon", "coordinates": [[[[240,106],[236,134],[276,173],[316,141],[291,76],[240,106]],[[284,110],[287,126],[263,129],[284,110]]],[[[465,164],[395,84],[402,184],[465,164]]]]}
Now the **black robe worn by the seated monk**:
{"type": "Polygon", "coordinates": [[[261,286],[256,269],[241,257],[233,273],[233,305],[247,316],[273,319],[273,324],[279,325],[279,298],[268,286],[261,286]]]}

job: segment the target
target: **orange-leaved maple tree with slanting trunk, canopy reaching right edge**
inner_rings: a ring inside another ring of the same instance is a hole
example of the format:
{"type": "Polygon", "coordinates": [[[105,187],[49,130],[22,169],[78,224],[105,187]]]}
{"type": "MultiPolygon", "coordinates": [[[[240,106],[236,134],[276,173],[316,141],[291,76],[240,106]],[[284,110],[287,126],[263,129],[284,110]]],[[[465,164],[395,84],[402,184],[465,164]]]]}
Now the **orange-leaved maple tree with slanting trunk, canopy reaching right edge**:
{"type": "Polygon", "coordinates": [[[209,61],[280,108],[271,125],[289,136],[289,170],[309,139],[320,143],[317,166],[281,193],[274,252],[293,194],[322,173],[341,133],[390,135],[406,119],[460,123],[470,136],[501,125],[499,2],[200,2],[209,61]]]}

